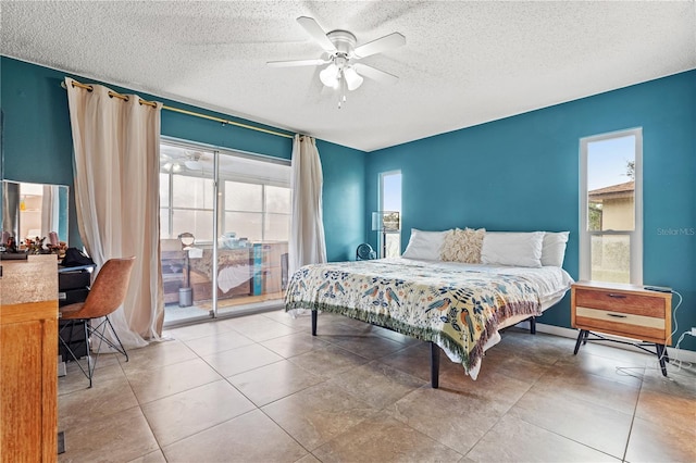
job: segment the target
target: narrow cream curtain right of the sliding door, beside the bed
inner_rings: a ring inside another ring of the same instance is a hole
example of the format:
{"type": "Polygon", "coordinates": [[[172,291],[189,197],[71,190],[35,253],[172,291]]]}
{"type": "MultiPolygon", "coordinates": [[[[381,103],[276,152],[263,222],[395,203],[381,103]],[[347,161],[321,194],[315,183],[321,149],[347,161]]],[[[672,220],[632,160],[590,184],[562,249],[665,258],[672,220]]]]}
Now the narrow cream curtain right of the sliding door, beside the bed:
{"type": "Polygon", "coordinates": [[[288,247],[288,271],[326,262],[322,220],[322,163],[314,139],[295,135],[293,141],[293,218],[288,247]]]}

